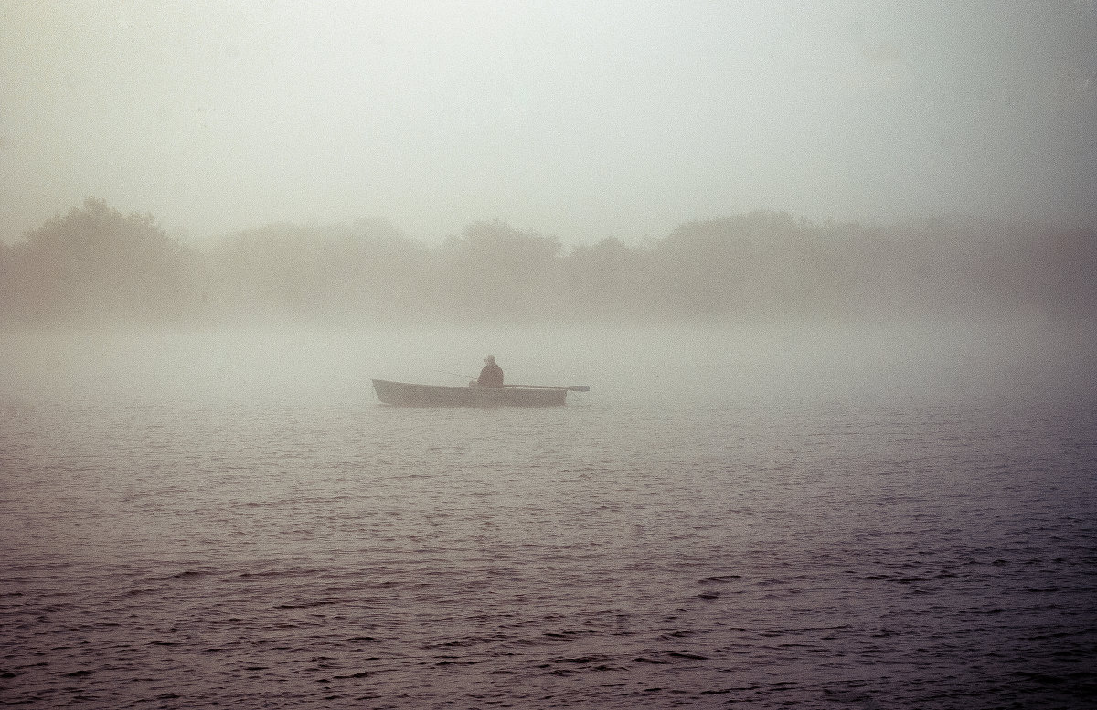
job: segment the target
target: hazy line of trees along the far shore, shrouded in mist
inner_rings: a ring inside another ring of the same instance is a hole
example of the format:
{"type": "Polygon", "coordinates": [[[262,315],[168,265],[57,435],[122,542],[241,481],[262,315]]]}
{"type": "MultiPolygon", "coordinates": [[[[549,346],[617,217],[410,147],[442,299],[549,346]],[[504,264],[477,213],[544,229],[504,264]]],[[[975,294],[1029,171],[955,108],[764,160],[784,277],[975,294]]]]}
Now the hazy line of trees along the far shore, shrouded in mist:
{"type": "Polygon", "coordinates": [[[850,319],[1097,314],[1097,237],[1033,224],[814,224],[755,211],[663,239],[475,222],[437,247],[384,221],[273,225],[195,248],[100,199],[0,243],[0,323],[850,319]]]}

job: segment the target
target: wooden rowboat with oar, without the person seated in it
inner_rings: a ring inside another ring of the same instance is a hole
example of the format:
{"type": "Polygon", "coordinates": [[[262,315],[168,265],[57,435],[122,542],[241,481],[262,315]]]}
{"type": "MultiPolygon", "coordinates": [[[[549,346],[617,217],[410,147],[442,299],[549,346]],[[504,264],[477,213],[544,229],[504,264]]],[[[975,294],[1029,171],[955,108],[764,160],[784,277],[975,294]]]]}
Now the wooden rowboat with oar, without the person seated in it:
{"type": "Polygon", "coordinates": [[[586,385],[505,385],[493,387],[446,387],[373,380],[373,391],[385,404],[402,406],[559,406],[568,391],[586,392],[586,385]]]}

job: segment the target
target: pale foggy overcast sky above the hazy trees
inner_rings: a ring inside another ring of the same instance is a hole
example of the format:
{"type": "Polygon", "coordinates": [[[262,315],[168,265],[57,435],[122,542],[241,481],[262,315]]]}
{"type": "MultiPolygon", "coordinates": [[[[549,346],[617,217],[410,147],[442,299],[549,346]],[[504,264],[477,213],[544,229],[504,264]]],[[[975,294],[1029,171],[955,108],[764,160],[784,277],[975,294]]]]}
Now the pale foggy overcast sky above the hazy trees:
{"type": "Polygon", "coordinates": [[[1094,0],[0,0],[0,238],[758,208],[1097,227],[1094,0]]]}

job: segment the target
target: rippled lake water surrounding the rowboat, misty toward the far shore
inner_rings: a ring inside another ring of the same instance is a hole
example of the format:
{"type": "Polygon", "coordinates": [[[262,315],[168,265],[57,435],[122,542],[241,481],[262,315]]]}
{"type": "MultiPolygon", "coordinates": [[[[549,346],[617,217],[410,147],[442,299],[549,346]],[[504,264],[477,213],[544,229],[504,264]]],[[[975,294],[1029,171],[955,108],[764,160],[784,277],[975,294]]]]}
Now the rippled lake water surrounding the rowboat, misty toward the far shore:
{"type": "Polygon", "coordinates": [[[1095,362],[1085,324],[2,335],[0,703],[1093,707],[1095,362]],[[591,390],[370,389],[488,353],[591,390]]]}

